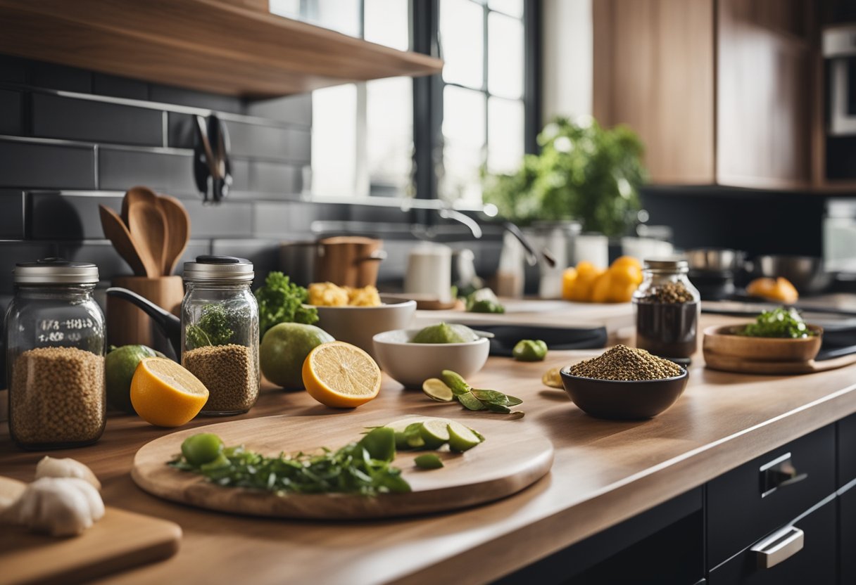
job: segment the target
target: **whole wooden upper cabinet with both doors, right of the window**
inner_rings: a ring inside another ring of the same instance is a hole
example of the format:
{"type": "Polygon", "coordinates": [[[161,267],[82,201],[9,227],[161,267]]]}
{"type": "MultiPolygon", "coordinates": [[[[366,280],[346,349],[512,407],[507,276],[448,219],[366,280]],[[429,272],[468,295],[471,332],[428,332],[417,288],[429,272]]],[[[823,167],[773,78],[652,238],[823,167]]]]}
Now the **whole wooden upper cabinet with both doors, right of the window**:
{"type": "Polygon", "coordinates": [[[594,0],[594,115],[661,185],[811,180],[809,0],[594,0]]]}

